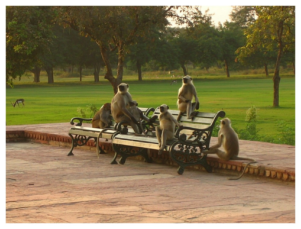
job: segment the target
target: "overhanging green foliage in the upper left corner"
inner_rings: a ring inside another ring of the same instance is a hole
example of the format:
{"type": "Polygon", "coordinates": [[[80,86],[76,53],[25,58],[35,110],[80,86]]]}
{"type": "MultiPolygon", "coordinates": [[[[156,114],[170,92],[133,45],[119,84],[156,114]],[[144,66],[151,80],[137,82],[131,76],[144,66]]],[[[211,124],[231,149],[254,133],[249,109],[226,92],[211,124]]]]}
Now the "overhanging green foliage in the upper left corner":
{"type": "Polygon", "coordinates": [[[49,52],[53,38],[49,6],[6,6],[6,84],[26,70],[41,66],[39,55],[49,52]]]}

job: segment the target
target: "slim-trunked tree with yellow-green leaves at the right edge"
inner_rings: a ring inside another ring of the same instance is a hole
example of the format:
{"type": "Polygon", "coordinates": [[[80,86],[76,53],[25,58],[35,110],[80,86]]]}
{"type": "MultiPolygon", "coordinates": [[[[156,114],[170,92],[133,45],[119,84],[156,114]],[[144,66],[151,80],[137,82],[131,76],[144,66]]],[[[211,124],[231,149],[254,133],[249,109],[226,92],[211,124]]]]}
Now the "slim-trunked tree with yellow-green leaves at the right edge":
{"type": "Polygon", "coordinates": [[[275,65],[273,106],[279,106],[281,58],[295,45],[295,6],[255,6],[257,19],[245,31],[246,47],[277,50],[275,65]],[[275,46],[277,47],[275,49],[275,46]]]}

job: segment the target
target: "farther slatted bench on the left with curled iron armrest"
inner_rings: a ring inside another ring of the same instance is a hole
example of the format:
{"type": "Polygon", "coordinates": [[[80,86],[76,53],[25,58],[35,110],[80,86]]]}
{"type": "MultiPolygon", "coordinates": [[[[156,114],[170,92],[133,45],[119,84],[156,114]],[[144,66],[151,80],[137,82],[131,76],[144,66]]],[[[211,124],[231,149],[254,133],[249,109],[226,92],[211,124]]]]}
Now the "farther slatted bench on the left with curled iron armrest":
{"type": "MultiPolygon", "coordinates": [[[[151,111],[154,111],[154,108],[139,108],[146,116],[150,114],[151,111]]],[[[95,144],[97,143],[97,156],[99,154],[105,153],[103,149],[99,146],[98,142],[100,138],[103,139],[110,139],[112,140],[113,136],[118,133],[135,133],[134,130],[131,127],[123,126],[122,123],[116,124],[115,120],[113,119],[112,115],[111,117],[111,126],[109,128],[100,129],[100,128],[92,128],[92,127],[82,127],[83,122],[92,121],[92,118],[79,118],[75,117],[72,118],[70,121],[70,124],[73,125],[73,127],[69,130],[69,136],[72,140],[72,146],[67,154],[68,156],[74,155],[73,149],[77,146],[84,146],[88,143],[90,139],[94,139],[95,144]],[[75,122],[77,122],[75,124],[75,122]],[[75,125],[74,125],[75,124],[75,125]],[[73,137],[74,136],[74,137],[73,137]]],[[[92,126],[92,124],[91,124],[92,126]]]]}

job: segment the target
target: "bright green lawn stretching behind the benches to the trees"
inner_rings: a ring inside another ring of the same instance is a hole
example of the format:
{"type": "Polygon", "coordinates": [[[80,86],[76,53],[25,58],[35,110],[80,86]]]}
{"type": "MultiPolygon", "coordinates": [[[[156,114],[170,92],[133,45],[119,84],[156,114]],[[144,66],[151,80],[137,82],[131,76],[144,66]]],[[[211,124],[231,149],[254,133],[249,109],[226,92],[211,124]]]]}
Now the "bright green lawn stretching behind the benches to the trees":
{"type": "MultiPolygon", "coordinates": [[[[154,107],[165,103],[171,109],[177,109],[178,88],[181,78],[170,85],[170,76],[145,76],[143,81],[137,77],[123,77],[124,83],[129,83],[129,92],[140,107],[154,107]]],[[[199,111],[217,112],[224,110],[226,117],[232,120],[237,128],[246,128],[246,112],[255,105],[259,109],[257,128],[259,133],[267,136],[277,136],[277,122],[295,126],[295,77],[281,77],[279,89],[279,107],[273,104],[272,77],[234,76],[226,77],[193,77],[200,100],[199,111]]],[[[32,83],[25,77],[16,81],[11,89],[6,86],[6,124],[39,124],[69,122],[79,116],[77,108],[87,108],[94,104],[98,108],[113,97],[113,89],[107,80],[101,79],[94,83],[92,77],[55,78],[54,84],[47,84],[47,78],[41,77],[40,83],[32,83]],[[25,107],[13,107],[11,102],[25,99],[25,107]],[[11,101],[11,102],[10,102],[11,101]]]]}

